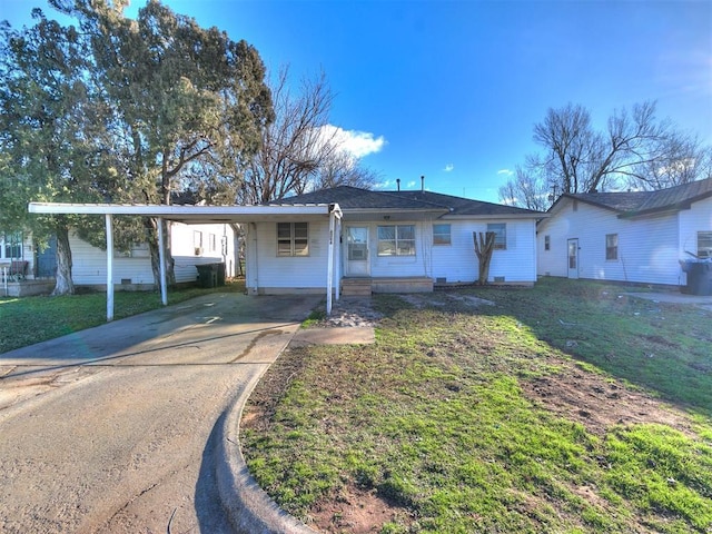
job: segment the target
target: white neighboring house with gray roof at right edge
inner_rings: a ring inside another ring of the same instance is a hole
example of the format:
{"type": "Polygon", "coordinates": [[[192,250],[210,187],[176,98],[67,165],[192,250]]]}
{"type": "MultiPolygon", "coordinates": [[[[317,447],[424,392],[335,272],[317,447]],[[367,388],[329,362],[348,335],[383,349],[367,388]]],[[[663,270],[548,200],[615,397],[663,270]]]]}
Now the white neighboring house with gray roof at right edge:
{"type": "Polygon", "coordinates": [[[540,276],[686,285],[712,257],[712,178],[659,191],[562,195],[537,226],[540,276]]]}

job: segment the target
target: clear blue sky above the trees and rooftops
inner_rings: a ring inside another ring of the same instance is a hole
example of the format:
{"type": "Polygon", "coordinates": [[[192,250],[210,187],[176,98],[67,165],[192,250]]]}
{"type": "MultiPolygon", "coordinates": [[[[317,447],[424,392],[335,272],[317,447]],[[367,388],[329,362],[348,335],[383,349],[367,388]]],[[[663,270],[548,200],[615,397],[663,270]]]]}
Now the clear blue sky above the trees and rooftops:
{"type": "MultiPolygon", "coordinates": [[[[538,147],[550,107],[581,103],[604,127],[615,108],[657,101],[660,117],[712,144],[709,1],[165,0],[245,39],[294,81],[322,70],[330,123],[367,152],[382,186],[497,201],[538,147]]],[[[132,1],[136,12],[144,1],[132,1]]],[[[0,0],[30,23],[43,0],[0,0]]]]}

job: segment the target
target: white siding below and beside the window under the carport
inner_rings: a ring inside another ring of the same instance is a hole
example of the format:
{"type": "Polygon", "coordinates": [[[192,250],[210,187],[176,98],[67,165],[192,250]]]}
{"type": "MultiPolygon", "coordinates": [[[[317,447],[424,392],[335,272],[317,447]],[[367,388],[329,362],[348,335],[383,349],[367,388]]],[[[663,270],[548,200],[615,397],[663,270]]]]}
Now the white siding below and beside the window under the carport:
{"type": "Polygon", "coordinates": [[[328,219],[310,220],[309,255],[277,256],[277,224],[253,222],[247,229],[246,285],[251,294],[326,290],[328,219]]]}

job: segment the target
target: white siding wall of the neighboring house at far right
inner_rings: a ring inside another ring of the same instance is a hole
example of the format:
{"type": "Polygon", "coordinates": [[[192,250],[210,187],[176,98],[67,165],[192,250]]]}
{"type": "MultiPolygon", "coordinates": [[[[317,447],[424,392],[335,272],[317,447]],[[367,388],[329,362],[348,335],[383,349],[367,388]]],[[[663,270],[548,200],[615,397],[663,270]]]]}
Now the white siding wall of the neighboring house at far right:
{"type": "Polygon", "coordinates": [[[537,271],[542,276],[568,276],[567,241],[578,239],[578,277],[644,284],[684,284],[678,250],[678,216],[620,219],[604,208],[571,199],[538,227],[537,271]],[[605,259],[605,236],[617,234],[617,260],[605,259]],[[550,250],[545,237],[550,236],[550,250]]]}

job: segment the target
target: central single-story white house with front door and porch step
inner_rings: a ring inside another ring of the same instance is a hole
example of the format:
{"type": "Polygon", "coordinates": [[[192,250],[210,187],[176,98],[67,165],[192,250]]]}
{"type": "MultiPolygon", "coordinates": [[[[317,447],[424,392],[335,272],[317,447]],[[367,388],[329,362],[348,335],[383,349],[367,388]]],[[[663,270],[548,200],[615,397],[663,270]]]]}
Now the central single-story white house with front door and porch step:
{"type": "MultiPolygon", "coordinates": [[[[279,200],[277,207],[338,205],[334,276],[343,291],[428,291],[477,279],[473,234],[494,231],[490,280],[533,285],[536,220],[545,214],[426,190],[348,186],[279,200]]],[[[246,285],[251,294],[324,291],[329,221],[324,216],[248,221],[246,285]]]]}

